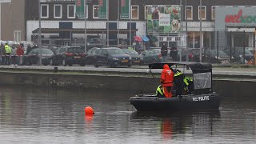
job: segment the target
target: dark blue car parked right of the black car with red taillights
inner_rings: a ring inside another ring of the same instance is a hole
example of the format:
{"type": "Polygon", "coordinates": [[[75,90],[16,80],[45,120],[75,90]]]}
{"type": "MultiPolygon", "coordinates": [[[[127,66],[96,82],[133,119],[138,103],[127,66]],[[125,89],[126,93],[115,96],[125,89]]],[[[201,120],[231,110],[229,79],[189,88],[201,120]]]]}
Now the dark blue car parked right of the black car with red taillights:
{"type": "Polygon", "coordinates": [[[96,51],[94,66],[132,66],[130,55],[117,47],[101,48],[96,51]]]}

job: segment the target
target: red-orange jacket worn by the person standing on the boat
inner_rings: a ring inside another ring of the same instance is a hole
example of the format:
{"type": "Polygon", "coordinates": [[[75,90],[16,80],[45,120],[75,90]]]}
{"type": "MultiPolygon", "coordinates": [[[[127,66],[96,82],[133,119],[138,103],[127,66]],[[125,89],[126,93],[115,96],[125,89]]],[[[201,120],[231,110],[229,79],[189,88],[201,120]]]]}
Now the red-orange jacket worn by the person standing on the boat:
{"type": "Polygon", "coordinates": [[[163,66],[160,82],[164,87],[173,86],[174,72],[170,70],[170,67],[166,64],[163,66]]]}

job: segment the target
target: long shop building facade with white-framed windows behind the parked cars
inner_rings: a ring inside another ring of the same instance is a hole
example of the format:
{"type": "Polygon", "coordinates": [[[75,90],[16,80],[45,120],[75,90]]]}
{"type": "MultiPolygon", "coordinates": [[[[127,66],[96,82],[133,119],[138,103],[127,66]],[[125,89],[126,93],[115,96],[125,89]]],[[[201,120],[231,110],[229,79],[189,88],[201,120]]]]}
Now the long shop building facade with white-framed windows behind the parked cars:
{"type": "MultiPolygon", "coordinates": [[[[224,24],[224,27],[226,26],[224,29],[217,28],[218,25],[223,26],[223,22],[226,23],[223,15],[230,15],[230,11],[237,15],[239,10],[242,10],[243,14],[253,11],[250,7],[256,6],[256,1],[251,0],[202,0],[201,40],[199,0],[132,0],[130,10],[133,36],[145,36],[149,34],[149,30],[147,29],[149,24],[149,6],[178,5],[182,6],[180,15],[181,30],[178,34],[153,33],[158,38],[158,46],[161,46],[164,42],[167,42],[168,46],[175,44],[179,47],[186,47],[187,44],[190,48],[199,48],[200,42],[202,42],[202,46],[210,49],[218,45],[223,48],[227,45],[241,46],[241,43],[243,43],[243,41],[241,42],[241,37],[244,37],[242,36],[244,34],[242,33],[243,30],[245,31],[244,35],[246,37],[245,45],[249,47],[255,45],[254,28],[256,26],[254,26],[254,22],[242,24],[230,22],[230,24],[224,24]],[[229,9],[222,10],[225,7],[229,7],[229,9]],[[179,38],[168,39],[169,36],[179,38]]],[[[26,9],[26,40],[32,41],[34,38],[37,38],[36,35],[38,32],[38,1],[26,0],[26,7],[31,7],[31,9],[26,9]]],[[[81,30],[85,28],[85,20],[79,19],[76,16],[75,0],[41,0],[41,18],[43,38],[84,38],[84,31],[81,30]]],[[[104,30],[107,28],[107,20],[106,18],[98,18],[98,1],[87,2],[86,18],[86,28],[89,30],[87,32],[106,39],[106,31],[104,30]],[[97,31],[97,29],[102,31],[97,31]]],[[[231,19],[230,21],[233,20],[231,19]]],[[[120,20],[118,25],[118,0],[109,0],[109,22],[110,30],[113,30],[113,34],[110,32],[110,39],[129,38],[127,32],[130,25],[129,20],[120,20]],[[118,27],[120,30],[123,30],[120,34],[116,34],[116,31],[114,31],[118,27]]]]}

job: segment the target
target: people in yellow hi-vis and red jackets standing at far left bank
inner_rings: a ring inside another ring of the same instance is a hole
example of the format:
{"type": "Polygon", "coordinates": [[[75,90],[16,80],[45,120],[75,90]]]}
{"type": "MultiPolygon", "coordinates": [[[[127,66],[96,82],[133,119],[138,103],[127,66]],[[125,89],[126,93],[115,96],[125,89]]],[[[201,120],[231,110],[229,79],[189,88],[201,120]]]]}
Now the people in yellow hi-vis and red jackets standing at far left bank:
{"type": "Polygon", "coordinates": [[[9,46],[6,42],[5,45],[0,46],[0,64],[1,65],[21,65],[22,57],[24,55],[23,44],[18,44],[17,47],[9,46]]]}

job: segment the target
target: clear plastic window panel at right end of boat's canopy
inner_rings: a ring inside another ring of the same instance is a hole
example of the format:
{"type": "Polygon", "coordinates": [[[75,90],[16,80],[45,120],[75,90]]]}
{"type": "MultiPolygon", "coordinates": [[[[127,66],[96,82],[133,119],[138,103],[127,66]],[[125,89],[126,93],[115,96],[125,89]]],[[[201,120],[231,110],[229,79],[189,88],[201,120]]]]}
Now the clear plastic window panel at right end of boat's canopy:
{"type": "Polygon", "coordinates": [[[210,89],[211,88],[211,73],[194,74],[194,89],[210,89]]]}

